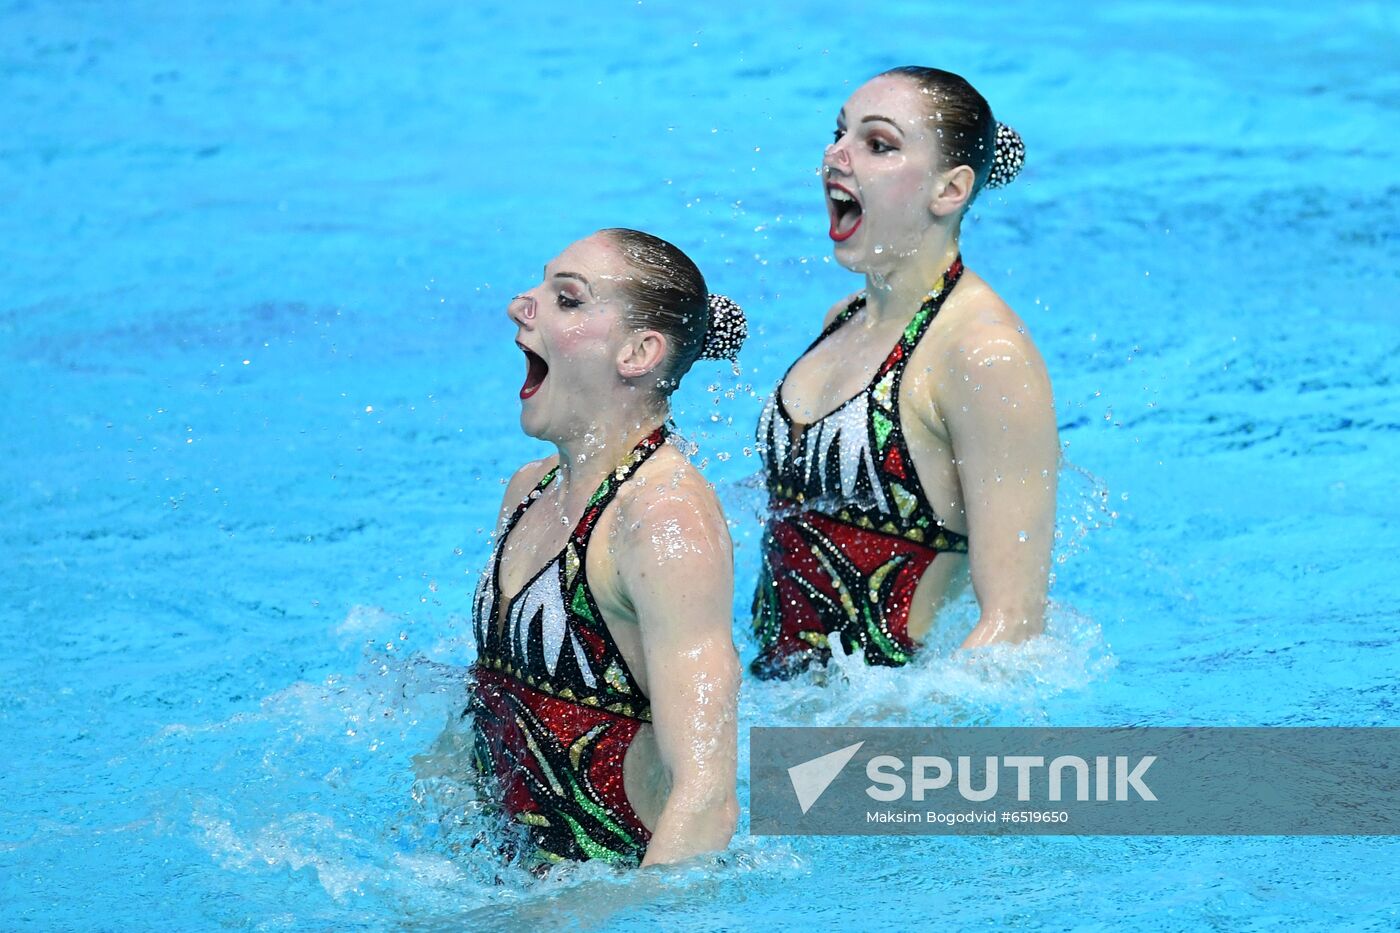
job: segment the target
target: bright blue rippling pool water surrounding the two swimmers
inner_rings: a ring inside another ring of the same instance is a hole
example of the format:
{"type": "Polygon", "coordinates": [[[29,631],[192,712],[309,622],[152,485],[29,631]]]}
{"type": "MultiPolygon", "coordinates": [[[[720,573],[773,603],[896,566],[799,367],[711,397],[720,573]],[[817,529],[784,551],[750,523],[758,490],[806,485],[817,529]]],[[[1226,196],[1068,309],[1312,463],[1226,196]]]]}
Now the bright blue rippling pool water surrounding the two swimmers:
{"type": "MultiPolygon", "coordinates": [[[[1023,134],[963,254],[1065,447],[1050,633],[745,726],[1400,726],[1393,4],[0,6],[6,929],[1400,925],[1390,838],[756,838],[536,880],[473,849],[468,611],[508,296],[605,226],[748,310],[678,422],[734,523],[857,282],[815,168],[893,64],[1023,134]]],[[[748,804],[746,761],[741,796],[748,804]]]]}

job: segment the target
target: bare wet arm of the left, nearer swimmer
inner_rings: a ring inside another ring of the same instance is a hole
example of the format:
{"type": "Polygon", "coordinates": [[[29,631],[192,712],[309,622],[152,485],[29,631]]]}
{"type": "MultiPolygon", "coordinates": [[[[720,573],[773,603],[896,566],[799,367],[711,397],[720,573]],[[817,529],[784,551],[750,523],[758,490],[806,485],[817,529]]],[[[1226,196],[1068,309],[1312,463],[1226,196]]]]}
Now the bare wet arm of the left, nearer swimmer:
{"type": "Polygon", "coordinates": [[[619,518],[627,530],[619,577],[637,612],[652,727],[671,776],[643,864],[666,864],[724,849],[738,821],[734,559],[703,481],[647,488],[619,518]]]}

